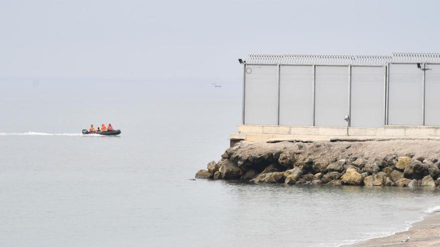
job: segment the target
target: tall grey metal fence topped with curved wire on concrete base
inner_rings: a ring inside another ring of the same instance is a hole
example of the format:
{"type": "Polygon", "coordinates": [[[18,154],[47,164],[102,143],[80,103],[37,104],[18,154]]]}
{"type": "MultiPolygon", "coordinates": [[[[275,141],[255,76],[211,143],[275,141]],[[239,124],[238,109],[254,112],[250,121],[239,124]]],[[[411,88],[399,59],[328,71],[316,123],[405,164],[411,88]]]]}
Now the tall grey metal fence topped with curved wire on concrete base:
{"type": "Polygon", "coordinates": [[[248,55],[243,124],[440,125],[440,54],[248,55]]]}

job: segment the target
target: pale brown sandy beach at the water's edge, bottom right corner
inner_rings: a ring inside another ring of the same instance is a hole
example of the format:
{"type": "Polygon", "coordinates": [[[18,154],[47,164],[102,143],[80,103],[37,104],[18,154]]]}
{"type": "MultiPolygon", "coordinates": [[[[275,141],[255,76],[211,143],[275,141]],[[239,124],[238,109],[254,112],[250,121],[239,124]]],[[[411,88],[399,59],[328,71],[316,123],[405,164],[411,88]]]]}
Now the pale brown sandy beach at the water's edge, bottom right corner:
{"type": "Polygon", "coordinates": [[[439,247],[440,246],[440,211],[426,216],[423,221],[414,223],[405,232],[394,235],[367,240],[350,247],[439,247]]]}

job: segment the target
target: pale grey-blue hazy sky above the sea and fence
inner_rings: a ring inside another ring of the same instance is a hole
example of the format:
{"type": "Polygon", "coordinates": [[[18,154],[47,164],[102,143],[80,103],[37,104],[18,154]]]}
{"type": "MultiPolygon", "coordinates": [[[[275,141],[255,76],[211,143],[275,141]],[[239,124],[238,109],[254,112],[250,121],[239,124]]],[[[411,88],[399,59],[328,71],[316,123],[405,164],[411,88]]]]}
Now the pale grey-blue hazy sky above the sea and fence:
{"type": "Polygon", "coordinates": [[[440,52],[435,0],[0,0],[0,77],[237,78],[247,53],[440,52]]]}

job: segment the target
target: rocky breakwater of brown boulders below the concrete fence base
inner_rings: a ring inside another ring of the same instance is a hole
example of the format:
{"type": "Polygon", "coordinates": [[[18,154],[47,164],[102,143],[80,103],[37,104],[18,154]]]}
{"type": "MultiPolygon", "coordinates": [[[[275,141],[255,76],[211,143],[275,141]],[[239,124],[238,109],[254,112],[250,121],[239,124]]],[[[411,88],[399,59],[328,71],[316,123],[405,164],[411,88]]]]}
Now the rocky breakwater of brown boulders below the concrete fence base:
{"type": "Polygon", "coordinates": [[[268,184],[440,186],[440,141],[246,142],[228,148],[199,179],[268,184]]]}

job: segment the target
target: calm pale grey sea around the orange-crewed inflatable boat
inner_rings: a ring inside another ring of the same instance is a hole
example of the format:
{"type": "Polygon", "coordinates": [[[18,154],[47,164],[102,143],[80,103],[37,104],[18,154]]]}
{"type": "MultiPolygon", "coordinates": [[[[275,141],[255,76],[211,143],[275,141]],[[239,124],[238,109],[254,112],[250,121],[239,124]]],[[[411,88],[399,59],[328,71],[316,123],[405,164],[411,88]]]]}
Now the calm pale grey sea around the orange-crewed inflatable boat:
{"type": "Polygon", "coordinates": [[[239,79],[1,79],[0,246],[338,246],[440,205],[437,190],[190,180],[228,147],[239,79]],[[102,122],[122,134],[79,134],[102,122]]]}

